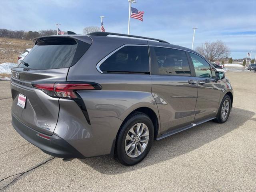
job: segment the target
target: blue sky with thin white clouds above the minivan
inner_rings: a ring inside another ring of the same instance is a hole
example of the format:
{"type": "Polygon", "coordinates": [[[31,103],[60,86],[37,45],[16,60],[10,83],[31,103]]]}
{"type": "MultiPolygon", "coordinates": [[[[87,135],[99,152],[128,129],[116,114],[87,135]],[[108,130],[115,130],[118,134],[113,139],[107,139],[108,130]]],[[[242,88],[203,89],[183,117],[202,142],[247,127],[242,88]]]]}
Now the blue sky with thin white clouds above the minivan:
{"type": "MultiPolygon", "coordinates": [[[[256,0],[136,0],[144,22],[131,18],[130,34],[167,40],[191,48],[205,41],[224,41],[233,58],[256,54],[256,0]]],[[[0,28],[11,30],[71,30],[86,26],[127,33],[128,0],[0,0],[0,28]]]]}

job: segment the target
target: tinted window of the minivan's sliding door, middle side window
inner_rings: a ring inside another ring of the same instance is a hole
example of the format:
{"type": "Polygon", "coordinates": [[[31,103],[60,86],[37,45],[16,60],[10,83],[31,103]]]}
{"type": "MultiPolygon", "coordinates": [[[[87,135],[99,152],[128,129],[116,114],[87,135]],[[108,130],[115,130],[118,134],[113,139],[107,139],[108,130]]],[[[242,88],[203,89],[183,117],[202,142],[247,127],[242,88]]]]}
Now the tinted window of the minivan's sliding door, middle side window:
{"type": "Polygon", "coordinates": [[[190,68],[185,51],[154,47],[156,54],[153,74],[190,76],[190,68]]]}

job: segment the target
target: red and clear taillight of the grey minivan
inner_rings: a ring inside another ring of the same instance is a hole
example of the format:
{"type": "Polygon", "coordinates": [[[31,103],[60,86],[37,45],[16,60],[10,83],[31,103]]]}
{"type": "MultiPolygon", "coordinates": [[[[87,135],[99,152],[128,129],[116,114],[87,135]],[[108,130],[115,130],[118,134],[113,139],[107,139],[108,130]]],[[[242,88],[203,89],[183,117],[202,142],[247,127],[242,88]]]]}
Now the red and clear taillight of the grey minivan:
{"type": "Polygon", "coordinates": [[[77,90],[101,90],[101,86],[92,82],[55,82],[55,83],[40,83],[32,84],[34,88],[42,90],[51,97],[76,99],[77,90]]]}

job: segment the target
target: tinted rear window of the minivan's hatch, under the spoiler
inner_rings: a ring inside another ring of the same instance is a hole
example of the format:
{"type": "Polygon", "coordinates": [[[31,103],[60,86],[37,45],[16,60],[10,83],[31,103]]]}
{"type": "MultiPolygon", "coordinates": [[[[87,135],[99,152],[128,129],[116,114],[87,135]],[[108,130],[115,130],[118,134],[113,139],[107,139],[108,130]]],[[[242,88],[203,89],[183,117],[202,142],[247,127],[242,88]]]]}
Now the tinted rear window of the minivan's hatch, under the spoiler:
{"type": "Polygon", "coordinates": [[[60,38],[38,42],[19,66],[30,69],[70,67],[76,47],[77,43],[74,39],[60,38]]]}

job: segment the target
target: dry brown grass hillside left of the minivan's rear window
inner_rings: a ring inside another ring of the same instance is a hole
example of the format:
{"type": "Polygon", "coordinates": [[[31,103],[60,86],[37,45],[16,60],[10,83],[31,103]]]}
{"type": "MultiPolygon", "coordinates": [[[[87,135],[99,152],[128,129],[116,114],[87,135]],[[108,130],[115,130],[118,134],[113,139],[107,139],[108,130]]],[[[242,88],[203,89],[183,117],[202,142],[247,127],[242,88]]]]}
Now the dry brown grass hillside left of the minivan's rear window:
{"type": "Polygon", "coordinates": [[[5,62],[17,63],[17,58],[34,43],[30,40],[0,37],[0,64],[5,62]]]}

